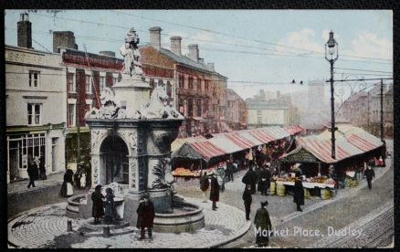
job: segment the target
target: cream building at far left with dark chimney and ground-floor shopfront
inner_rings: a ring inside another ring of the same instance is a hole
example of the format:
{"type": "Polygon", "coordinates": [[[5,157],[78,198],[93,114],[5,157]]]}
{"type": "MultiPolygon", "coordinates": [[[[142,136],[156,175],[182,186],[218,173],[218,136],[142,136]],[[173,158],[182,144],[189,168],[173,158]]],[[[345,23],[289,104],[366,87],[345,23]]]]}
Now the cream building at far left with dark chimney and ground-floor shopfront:
{"type": "Polygon", "coordinates": [[[7,183],[27,178],[28,160],[40,154],[47,174],[65,169],[66,70],[58,54],[32,48],[27,14],[17,39],[5,46],[7,183]]]}

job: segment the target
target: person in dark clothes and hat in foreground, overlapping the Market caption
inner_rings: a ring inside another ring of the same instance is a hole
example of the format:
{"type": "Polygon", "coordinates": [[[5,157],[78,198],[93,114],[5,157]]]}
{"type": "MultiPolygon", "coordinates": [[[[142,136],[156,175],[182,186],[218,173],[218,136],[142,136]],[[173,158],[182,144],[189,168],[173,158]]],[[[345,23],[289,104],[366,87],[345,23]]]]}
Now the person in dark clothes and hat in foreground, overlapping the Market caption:
{"type": "Polygon", "coordinates": [[[265,208],[267,205],[268,201],[261,202],[261,207],[258,208],[256,217],[254,218],[254,226],[256,226],[256,230],[258,231],[256,234],[256,244],[258,247],[268,246],[269,233],[272,230],[271,219],[269,218],[268,210],[265,208]]]}

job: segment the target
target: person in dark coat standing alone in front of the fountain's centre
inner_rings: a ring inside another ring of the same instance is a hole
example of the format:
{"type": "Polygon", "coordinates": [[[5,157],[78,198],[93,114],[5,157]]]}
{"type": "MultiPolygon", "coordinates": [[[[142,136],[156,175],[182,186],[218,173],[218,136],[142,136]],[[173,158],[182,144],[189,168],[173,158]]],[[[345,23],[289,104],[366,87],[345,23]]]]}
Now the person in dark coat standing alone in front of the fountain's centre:
{"type": "Polygon", "coordinates": [[[150,239],[153,239],[153,222],[154,222],[154,205],[149,199],[149,195],[145,194],[139,201],[138,209],[136,210],[138,219],[136,227],[141,229],[141,236],[139,240],[145,239],[145,228],[147,227],[147,233],[150,239]]]}

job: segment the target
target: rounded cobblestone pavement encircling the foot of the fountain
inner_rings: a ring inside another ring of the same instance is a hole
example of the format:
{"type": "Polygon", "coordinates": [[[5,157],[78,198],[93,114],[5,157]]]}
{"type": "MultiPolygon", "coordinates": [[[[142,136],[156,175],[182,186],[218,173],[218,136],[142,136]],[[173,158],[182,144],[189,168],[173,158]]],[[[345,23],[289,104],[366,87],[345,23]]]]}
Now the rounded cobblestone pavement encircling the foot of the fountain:
{"type": "MultiPolygon", "coordinates": [[[[17,247],[72,247],[72,248],[122,248],[122,247],[217,247],[245,234],[250,222],[244,213],[231,205],[218,204],[212,211],[211,205],[198,199],[186,199],[204,207],[205,227],[193,233],[163,234],[153,233],[153,241],[138,241],[138,229],[126,227],[118,236],[104,238],[101,233],[67,232],[65,216],[66,203],[46,205],[33,209],[8,223],[8,241],[17,247]]],[[[74,230],[78,230],[84,220],[72,220],[74,230]]]]}

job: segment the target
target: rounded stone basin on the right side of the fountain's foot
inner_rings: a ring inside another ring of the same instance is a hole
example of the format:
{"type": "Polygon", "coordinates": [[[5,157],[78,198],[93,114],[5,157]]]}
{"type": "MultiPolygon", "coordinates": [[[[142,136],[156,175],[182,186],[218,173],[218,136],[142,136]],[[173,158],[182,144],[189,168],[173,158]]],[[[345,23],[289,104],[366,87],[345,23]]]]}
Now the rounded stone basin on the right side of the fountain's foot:
{"type": "Polygon", "coordinates": [[[183,202],[174,205],[173,213],[155,213],[153,229],[160,233],[183,233],[194,232],[204,226],[203,207],[183,202]]]}

